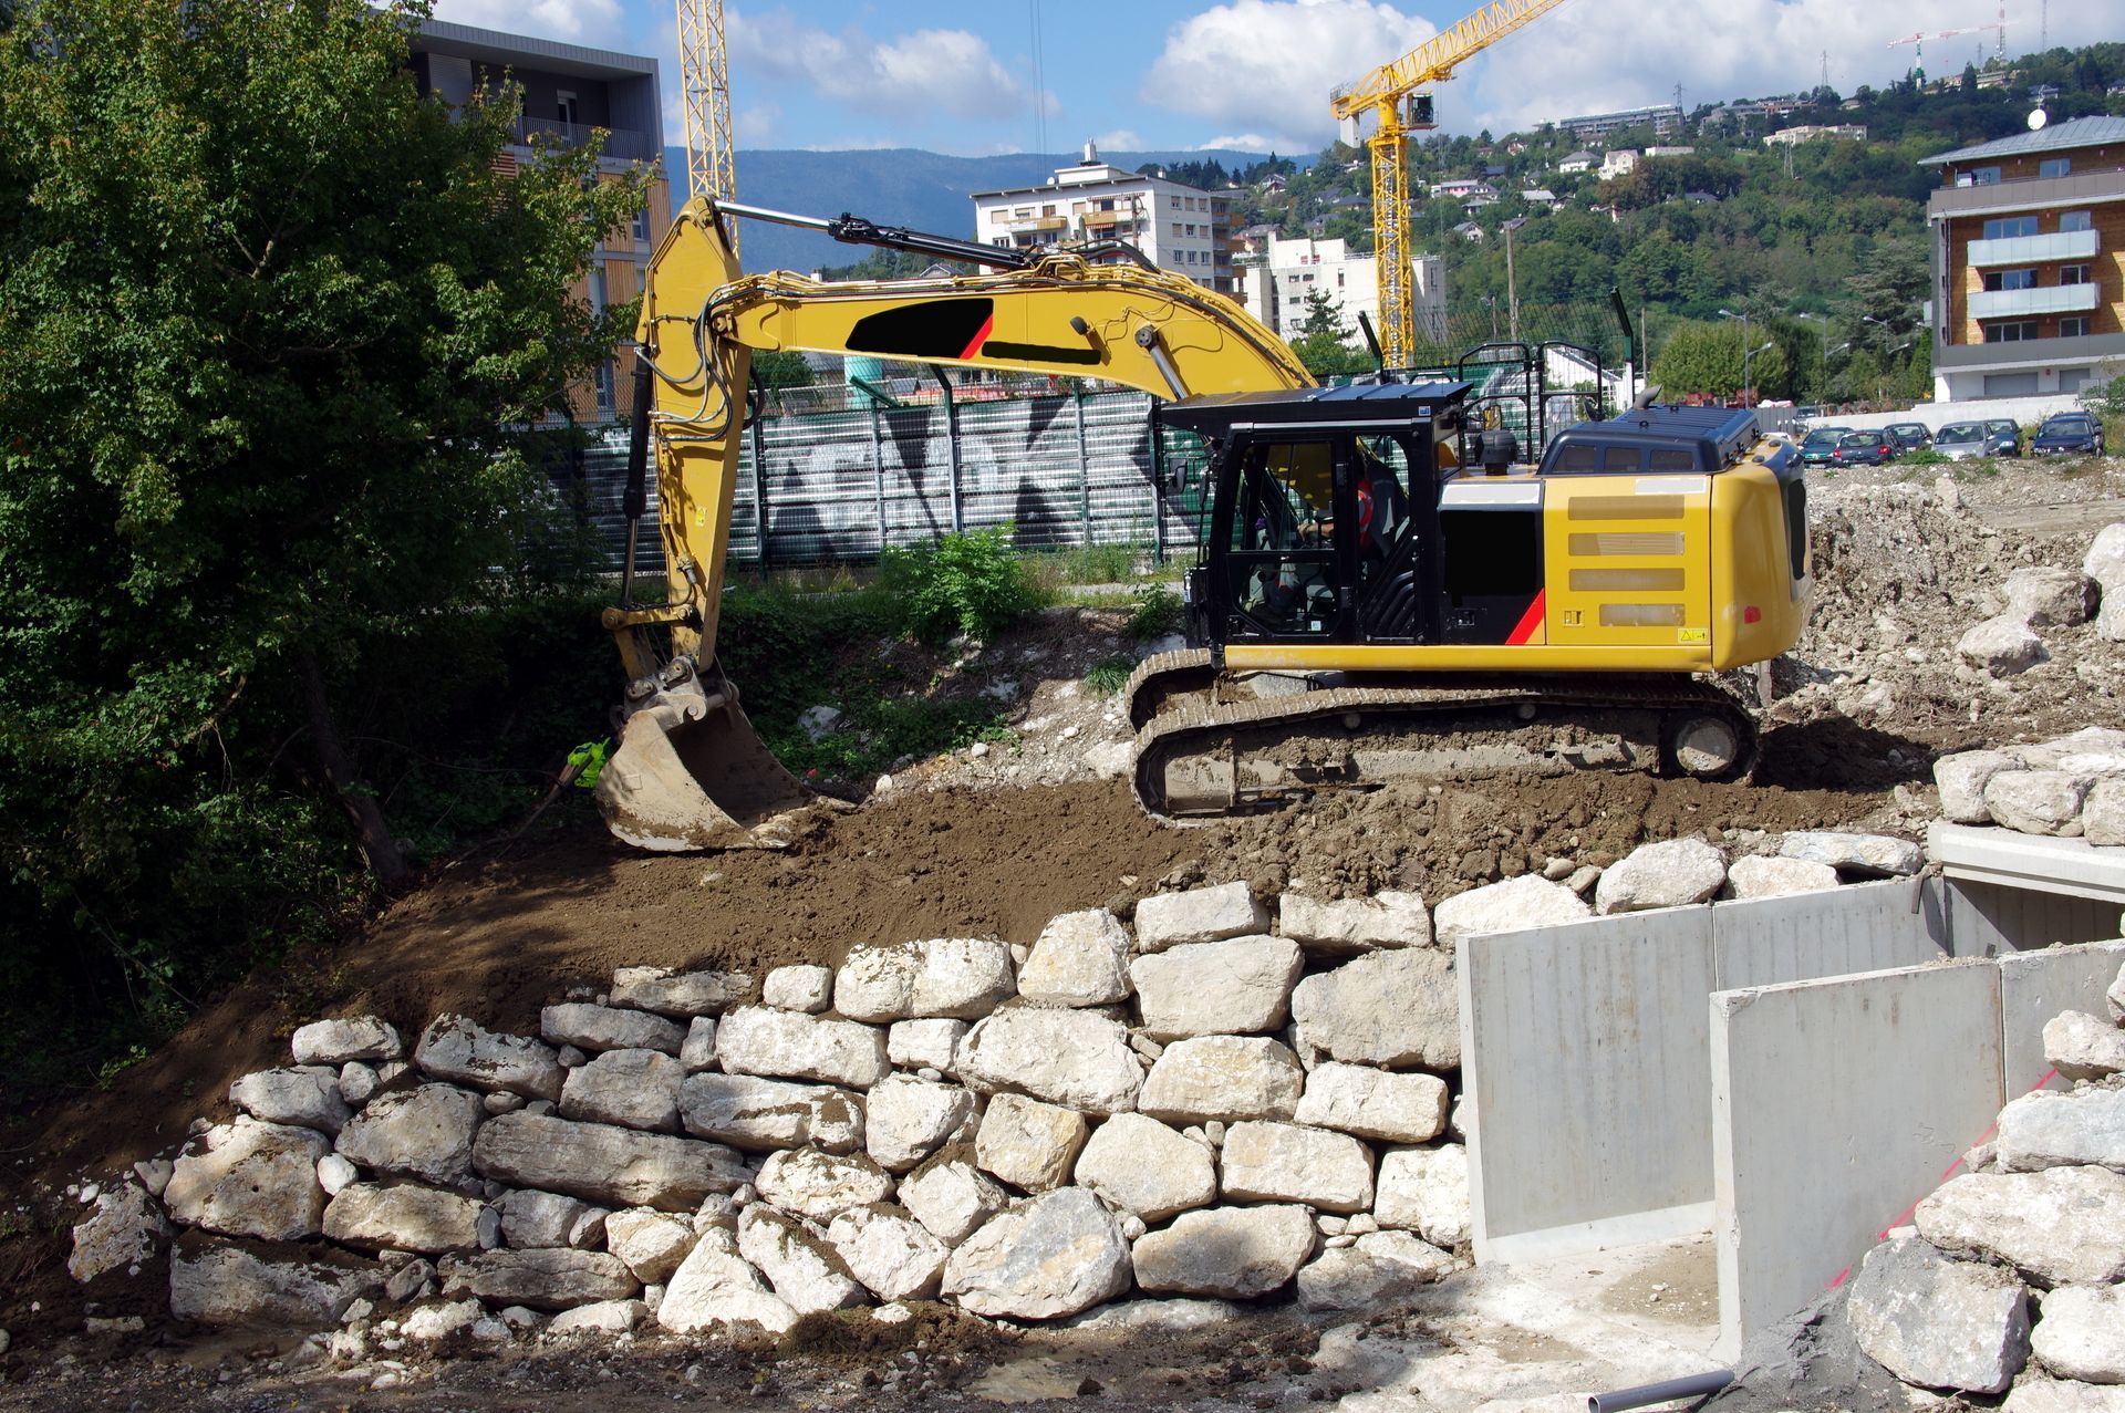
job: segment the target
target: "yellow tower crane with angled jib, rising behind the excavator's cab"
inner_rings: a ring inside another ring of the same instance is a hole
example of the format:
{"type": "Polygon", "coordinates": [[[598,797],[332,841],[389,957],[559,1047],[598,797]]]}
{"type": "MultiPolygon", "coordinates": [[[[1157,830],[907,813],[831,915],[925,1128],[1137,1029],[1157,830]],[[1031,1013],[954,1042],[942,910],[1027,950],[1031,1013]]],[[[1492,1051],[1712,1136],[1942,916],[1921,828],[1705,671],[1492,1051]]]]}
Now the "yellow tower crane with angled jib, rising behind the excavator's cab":
{"type": "Polygon", "coordinates": [[[1415,272],[1409,261],[1409,134],[1432,127],[1426,83],[1451,79],[1473,53],[1496,45],[1513,30],[1541,19],[1564,0],[1494,0],[1475,15],[1441,30],[1394,64],[1381,64],[1364,79],[1330,96],[1337,119],[1375,115],[1379,130],[1366,142],[1373,153],[1373,261],[1379,266],[1379,334],[1388,368],[1407,368],[1415,344],[1415,272]],[[1415,98],[1411,98],[1415,93],[1415,98]],[[1402,104],[1409,100],[1409,110],[1402,104]]]}

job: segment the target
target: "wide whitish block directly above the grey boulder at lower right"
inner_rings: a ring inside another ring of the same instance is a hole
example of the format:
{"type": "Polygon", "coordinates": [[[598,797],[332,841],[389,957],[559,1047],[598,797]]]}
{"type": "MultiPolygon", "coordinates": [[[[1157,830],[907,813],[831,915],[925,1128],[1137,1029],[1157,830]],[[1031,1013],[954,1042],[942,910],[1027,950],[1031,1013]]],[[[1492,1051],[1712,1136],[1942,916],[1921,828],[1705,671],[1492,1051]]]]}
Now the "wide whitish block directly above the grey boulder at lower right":
{"type": "Polygon", "coordinates": [[[1919,1203],[1919,1235],[1942,1252],[1995,1256],[2044,1286],[2125,1279],[2125,1177],[2110,1169],[1964,1173],[1919,1203]]]}

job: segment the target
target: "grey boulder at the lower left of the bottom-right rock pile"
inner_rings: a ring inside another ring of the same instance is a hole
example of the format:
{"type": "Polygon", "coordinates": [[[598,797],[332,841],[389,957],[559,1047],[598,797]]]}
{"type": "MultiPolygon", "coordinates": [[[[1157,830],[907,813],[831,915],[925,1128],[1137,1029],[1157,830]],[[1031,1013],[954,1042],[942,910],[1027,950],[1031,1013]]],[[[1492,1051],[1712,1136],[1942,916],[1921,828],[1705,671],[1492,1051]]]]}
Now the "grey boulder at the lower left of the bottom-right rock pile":
{"type": "Polygon", "coordinates": [[[1868,1252],[1844,1311],[1859,1349],[1904,1383],[1998,1394],[2029,1358],[2021,1281],[1925,1241],[1868,1252]]]}

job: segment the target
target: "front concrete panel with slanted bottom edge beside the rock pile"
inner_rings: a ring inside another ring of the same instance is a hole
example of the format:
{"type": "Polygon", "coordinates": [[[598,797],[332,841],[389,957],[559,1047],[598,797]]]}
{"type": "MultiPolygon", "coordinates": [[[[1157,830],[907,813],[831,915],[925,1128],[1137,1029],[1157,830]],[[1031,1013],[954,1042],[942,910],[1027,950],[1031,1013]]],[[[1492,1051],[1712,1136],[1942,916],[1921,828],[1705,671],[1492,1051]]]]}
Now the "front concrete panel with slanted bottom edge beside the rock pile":
{"type": "Polygon", "coordinates": [[[1842,1279],[1991,1126],[2000,969],[1711,999],[1719,1358],[1842,1279]]]}

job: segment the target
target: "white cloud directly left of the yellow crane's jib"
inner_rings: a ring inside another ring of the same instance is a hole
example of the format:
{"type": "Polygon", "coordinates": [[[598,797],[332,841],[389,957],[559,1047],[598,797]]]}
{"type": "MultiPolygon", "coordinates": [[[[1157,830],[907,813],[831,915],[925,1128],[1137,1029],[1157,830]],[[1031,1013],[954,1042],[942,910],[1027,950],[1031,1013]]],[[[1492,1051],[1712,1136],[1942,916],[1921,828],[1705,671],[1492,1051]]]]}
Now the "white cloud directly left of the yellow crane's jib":
{"type": "Polygon", "coordinates": [[[1228,0],[1167,34],[1139,96],[1245,132],[1303,134],[1277,142],[1279,151],[1305,151],[1334,136],[1330,89],[1398,59],[1434,32],[1432,21],[1373,0],[1228,0]]]}

